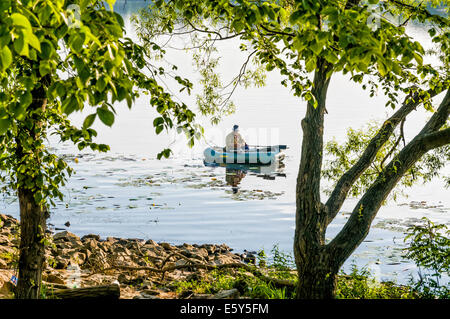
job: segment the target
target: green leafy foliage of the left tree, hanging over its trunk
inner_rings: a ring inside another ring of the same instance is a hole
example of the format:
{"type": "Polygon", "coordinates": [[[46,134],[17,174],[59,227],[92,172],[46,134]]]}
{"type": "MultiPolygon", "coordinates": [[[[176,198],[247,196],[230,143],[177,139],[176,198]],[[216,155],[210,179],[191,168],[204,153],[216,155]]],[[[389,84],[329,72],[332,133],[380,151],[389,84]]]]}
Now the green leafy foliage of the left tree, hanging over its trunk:
{"type": "MultiPolygon", "coordinates": [[[[62,197],[71,169],[44,145],[48,134],[84,149],[94,143],[98,118],[111,126],[117,102],[129,108],[150,95],[159,112],[156,133],[172,127],[194,136],[194,113],[148,76],[149,51],[125,37],[114,0],[2,0],[0,2],[0,181],[34,191],[35,199],[62,197]],[[92,108],[81,128],[68,115],[92,108]]],[[[180,83],[191,89],[189,81],[180,83]]],[[[158,157],[170,155],[166,149],[158,157]]]]}

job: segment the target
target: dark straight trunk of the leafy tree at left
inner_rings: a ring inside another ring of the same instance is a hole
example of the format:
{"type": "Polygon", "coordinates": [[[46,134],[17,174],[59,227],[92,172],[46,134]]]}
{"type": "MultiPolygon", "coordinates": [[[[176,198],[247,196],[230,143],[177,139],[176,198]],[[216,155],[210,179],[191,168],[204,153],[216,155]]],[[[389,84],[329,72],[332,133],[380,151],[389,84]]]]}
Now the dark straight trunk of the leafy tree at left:
{"type": "Polygon", "coordinates": [[[16,288],[16,298],[38,299],[41,288],[42,268],[45,260],[45,231],[48,210],[36,202],[34,195],[40,192],[36,180],[36,167],[29,167],[30,161],[40,169],[39,150],[25,149],[26,139],[41,139],[42,120],[32,111],[45,111],[47,105],[46,86],[49,76],[41,78],[39,86],[31,92],[32,103],[28,107],[28,114],[32,120],[32,127],[19,127],[16,137],[17,162],[25,166],[25,171],[17,172],[17,195],[20,206],[20,257],[19,276],[16,288]]]}

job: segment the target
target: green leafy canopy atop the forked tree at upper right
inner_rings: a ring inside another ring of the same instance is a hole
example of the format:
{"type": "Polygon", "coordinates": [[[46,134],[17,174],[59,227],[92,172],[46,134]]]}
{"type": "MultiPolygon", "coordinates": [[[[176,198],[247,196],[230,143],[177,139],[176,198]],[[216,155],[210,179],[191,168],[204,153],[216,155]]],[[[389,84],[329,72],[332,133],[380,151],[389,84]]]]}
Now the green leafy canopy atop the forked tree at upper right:
{"type": "Polygon", "coordinates": [[[206,48],[239,38],[240,49],[254,55],[255,63],[267,71],[278,69],[285,77],[282,84],[312,103],[311,73],[325,61],[328,77],[350,74],[372,95],[381,86],[393,108],[401,102],[400,93],[420,92],[431,109],[425,90],[441,92],[449,85],[449,20],[429,10],[439,5],[448,11],[448,1],[173,0],[151,4],[139,22],[147,30],[141,32],[144,40],[145,34],[194,33],[203,35],[195,45],[206,48]],[[424,63],[424,48],[406,32],[409,21],[426,23],[441,64],[424,63]]]}

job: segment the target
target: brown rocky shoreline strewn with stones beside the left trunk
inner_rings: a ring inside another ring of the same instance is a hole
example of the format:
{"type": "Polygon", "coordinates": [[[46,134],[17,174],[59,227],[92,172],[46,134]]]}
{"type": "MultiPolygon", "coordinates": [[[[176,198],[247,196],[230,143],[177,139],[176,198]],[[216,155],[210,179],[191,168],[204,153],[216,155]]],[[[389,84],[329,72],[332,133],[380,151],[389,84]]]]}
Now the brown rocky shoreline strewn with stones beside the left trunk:
{"type": "MultiPolygon", "coordinates": [[[[18,220],[0,214],[0,298],[13,296],[10,279],[16,273],[18,234],[18,220]]],[[[80,238],[69,231],[48,233],[47,239],[43,284],[50,297],[55,288],[117,284],[124,299],[238,298],[237,289],[185,296],[177,293],[175,283],[202,278],[220,265],[239,267],[256,259],[254,252],[233,253],[225,244],[174,246],[95,234],[80,238]]]]}

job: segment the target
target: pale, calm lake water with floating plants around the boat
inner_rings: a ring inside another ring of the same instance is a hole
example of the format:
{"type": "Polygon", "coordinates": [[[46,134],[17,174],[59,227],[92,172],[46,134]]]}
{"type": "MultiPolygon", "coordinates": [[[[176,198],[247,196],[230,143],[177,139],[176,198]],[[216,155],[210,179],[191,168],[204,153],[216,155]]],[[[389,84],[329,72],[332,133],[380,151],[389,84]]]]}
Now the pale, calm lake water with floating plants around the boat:
{"type": "MultiPolygon", "coordinates": [[[[129,14],[142,6],[136,3],[118,1],[116,5],[125,15],[131,37],[135,35],[129,14]]],[[[425,47],[429,45],[421,28],[411,28],[411,33],[425,47]]],[[[245,59],[237,43],[227,42],[219,47],[220,72],[224,79],[230,79],[245,59]]],[[[170,52],[168,59],[175,61],[181,75],[192,81],[198,79],[189,55],[170,52]]],[[[205,139],[193,149],[174,133],[154,134],[152,121],[156,112],[146,98],[141,98],[132,110],[118,105],[112,128],[95,123],[98,141],[109,144],[110,153],[79,153],[70,145],[51,141],[50,145],[66,156],[76,171],[64,188],[64,202],[52,211],[51,226],[68,229],[79,236],[97,233],[102,237],[151,238],[173,244],[226,243],[235,251],[269,252],[278,245],[280,250],[291,252],[302,135],[300,121],[305,102],[293,97],[280,80],[276,72],[271,72],[264,88],[238,89],[233,97],[236,113],[218,126],[213,127],[207,118],[200,118],[205,139]],[[226,169],[205,167],[202,155],[210,144],[223,145],[225,135],[235,123],[240,125],[249,144],[289,146],[284,168],[249,171],[240,176],[229,174],[229,178],[242,178],[236,194],[227,184],[226,169]],[[174,156],[156,160],[156,154],[169,145],[174,156]],[[70,227],[64,226],[67,221],[70,227]]],[[[177,91],[169,80],[167,83],[177,91]]],[[[195,95],[179,95],[179,98],[194,105],[195,95]]],[[[436,102],[441,98],[437,97],[436,102]]],[[[325,139],[342,141],[349,127],[360,128],[369,120],[382,120],[392,113],[384,107],[384,102],[381,93],[370,98],[368,92],[348,77],[336,75],[328,94],[325,139]]],[[[72,119],[80,124],[90,112],[75,114],[72,119]]],[[[429,116],[421,109],[412,114],[405,125],[407,137],[418,132],[424,118],[429,116]]],[[[449,173],[448,166],[443,173],[449,173]]],[[[368,237],[344,265],[345,270],[355,263],[367,266],[379,280],[398,282],[406,282],[417,272],[414,264],[402,257],[403,231],[423,216],[450,225],[449,192],[441,181],[433,180],[407,193],[408,198],[389,202],[380,209],[368,237]]],[[[327,238],[337,234],[356,202],[357,199],[347,200],[330,225],[327,238]]],[[[14,198],[4,197],[0,210],[18,217],[14,198]]]]}

